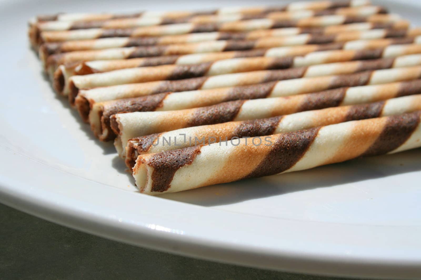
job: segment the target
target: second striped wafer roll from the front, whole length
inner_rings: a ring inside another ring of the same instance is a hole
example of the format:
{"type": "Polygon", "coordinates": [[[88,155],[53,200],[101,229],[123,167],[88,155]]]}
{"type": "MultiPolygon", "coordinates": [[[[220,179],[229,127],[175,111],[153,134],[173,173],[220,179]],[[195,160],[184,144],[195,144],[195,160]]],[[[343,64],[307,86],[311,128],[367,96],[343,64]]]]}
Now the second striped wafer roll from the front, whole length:
{"type": "Polygon", "coordinates": [[[233,137],[256,137],[298,131],[350,120],[411,113],[417,110],[421,110],[421,94],[259,120],[194,126],[130,139],[125,151],[125,162],[129,168],[133,168],[139,154],[165,152],[212,142],[217,143],[231,140],[233,137]]]}

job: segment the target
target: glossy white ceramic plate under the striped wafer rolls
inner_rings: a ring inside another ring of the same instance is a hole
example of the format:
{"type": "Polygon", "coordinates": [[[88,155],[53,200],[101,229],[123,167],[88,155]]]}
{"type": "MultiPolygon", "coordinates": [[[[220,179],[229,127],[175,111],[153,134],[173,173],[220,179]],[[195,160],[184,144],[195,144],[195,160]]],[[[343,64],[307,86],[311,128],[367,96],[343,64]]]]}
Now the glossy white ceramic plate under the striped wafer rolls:
{"type": "MultiPolygon", "coordinates": [[[[94,139],[53,93],[26,35],[27,20],[40,13],[228,4],[256,2],[1,1],[1,201],[99,236],[188,256],[326,275],[420,277],[421,149],[142,195],[112,144],[94,139]]],[[[416,0],[381,4],[421,25],[416,0]]]]}

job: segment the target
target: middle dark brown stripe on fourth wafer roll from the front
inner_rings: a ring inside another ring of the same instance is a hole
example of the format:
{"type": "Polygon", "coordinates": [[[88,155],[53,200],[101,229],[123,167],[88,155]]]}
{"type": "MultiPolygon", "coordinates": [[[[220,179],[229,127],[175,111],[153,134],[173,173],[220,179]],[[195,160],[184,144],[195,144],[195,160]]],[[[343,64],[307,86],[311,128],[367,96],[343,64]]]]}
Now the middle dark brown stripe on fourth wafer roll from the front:
{"type": "Polygon", "coordinates": [[[237,99],[258,99],[265,98],[271,92],[276,81],[263,83],[263,84],[254,84],[250,86],[234,86],[226,95],[224,102],[237,100],[237,99]]]}

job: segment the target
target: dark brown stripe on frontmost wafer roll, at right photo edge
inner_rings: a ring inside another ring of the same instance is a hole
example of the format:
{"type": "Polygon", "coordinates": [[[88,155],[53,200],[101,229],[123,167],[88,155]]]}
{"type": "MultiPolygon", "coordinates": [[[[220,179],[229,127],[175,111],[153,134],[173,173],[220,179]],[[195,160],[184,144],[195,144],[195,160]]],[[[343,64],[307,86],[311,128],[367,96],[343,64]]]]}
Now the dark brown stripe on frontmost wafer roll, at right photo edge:
{"type": "Polygon", "coordinates": [[[362,156],[386,154],[400,147],[417,128],[420,115],[421,111],[417,111],[388,117],[383,131],[362,156]]]}

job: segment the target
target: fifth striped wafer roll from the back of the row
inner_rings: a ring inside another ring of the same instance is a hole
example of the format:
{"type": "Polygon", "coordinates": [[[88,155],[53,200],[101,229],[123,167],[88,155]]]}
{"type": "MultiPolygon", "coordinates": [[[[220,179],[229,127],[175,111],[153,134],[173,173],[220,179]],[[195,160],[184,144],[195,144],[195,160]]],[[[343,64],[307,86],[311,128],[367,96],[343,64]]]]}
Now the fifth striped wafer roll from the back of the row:
{"type": "MultiPolygon", "coordinates": [[[[339,38],[339,37],[338,37],[339,38]]],[[[352,39],[346,37],[340,37],[343,40],[352,39]]],[[[195,53],[206,53],[206,52],[226,52],[232,50],[254,50],[262,48],[281,47],[285,45],[296,45],[296,47],[285,47],[283,49],[284,55],[294,55],[296,52],[302,52],[303,50],[309,50],[311,48],[318,49],[317,46],[306,45],[307,42],[331,42],[335,41],[335,38],[331,36],[327,37],[316,37],[314,41],[309,41],[312,36],[304,34],[299,35],[298,38],[294,38],[295,41],[288,41],[288,38],[261,38],[254,41],[233,41],[233,40],[221,40],[221,41],[207,41],[192,44],[173,44],[165,46],[151,46],[151,47],[123,47],[123,48],[111,48],[104,50],[85,50],[77,52],[65,52],[55,55],[50,55],[47,60],[43,61],[45,69],[49,72],[55,71],[58,65],[66,63],[83,62],[89,60],[113,60],[113,59],[125,59],[125,58],[145,58],[145,57],[156,57],[166,55],[186,55],[195,53]],[[318,41],[319,40],[319,41],[318,41]],[[301,42],[300,42],[301,41],[301,42]],[[298,45],[300,45],[298,48],[298,45]]],[[[345,50],[352,49],[367,49],[384,47],[390,44],[410,44],[421,41],[421,36],[416,37],[402,37],[402,38],[390,38],[390,39],[366,39],[366,40],[354,40],[354,41],[343,41],[337,42],[336,48],[343,48],[345,50]]]]}

